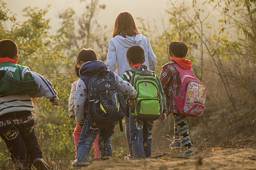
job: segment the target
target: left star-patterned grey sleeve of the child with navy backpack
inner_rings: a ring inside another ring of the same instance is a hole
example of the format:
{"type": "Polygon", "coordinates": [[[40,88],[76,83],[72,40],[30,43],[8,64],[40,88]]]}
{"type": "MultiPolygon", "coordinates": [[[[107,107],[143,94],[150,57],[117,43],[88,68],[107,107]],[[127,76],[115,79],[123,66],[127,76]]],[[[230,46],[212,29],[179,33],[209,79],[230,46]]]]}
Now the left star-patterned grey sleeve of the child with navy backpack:
{"type": "Polygon", "coordinates": [[[85,120],[86,97],[87,97],[87,92],[86,92],[85,83],[81,79],[79,79],[76,85],[75,102],[74,102],[77,122],[84,122],[85,120]]]}

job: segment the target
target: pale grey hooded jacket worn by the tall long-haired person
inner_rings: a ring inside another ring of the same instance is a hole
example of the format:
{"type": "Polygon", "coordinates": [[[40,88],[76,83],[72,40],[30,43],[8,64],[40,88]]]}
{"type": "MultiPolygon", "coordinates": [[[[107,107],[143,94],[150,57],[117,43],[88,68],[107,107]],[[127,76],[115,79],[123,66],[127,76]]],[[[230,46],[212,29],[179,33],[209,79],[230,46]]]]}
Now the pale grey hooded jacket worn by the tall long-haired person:
{"type": "Polygon", "coordinates": [[[130,70],[131,68],[127,62],[126,52],[127,49],[134,45],[141,46],[144,49],[145,62],[143,65],[155,71],[156,57],[151,48],[150,41],[140,33],[131,37],[126,36],[126,38],[117,35],[110,40],[109,52],[106,59],[108,69],[115,71],[117,65],[117,74],[119,76],[122,76],[126,70],[130,70]]]}

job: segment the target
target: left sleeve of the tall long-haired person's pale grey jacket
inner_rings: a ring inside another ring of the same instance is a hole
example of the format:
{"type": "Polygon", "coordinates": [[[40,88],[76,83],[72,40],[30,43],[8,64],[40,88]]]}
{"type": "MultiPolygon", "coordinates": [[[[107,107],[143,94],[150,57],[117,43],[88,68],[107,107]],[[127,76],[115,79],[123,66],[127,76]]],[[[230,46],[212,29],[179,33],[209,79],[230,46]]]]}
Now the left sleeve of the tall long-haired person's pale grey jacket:
{"type": "Polygon", "coordinates": [[[106,59],[106,65],[109,70],[115,71],[117,65],[117,53],[115,52],[115,47],[111,40],[109,42],[109,52],[106,59]]]}

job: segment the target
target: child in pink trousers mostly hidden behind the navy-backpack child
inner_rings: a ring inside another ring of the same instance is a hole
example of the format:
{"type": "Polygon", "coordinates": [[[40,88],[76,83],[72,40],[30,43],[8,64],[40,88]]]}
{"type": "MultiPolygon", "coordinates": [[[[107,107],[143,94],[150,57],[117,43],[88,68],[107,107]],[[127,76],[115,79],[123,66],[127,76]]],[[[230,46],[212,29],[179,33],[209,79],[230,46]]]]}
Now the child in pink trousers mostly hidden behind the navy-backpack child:
{"type": "MultiPolygon", "coordinates": [[[[80,69],[79,67],[75,66],[75,73],[78,78],[80,78],[79,69],[80,69]]],[[[75,112],[74,112],[74,108],[75,108],[74,107],[74,99],[75,99],[76,85],[77,85],[77,80],[71,84],[71,92],[70,92],[69,100],[68,100],[68,112],[69,112],[69,117],[72,120],[76,119],[75,112]]],[[[77,122],[76,129],[74,130],[74,133],[73,133],[74,141],[75,141],[75,148],[76,148],[76,157],[75,157],[75,161],[72,164],[77,162],[77,145],[79,143],[79,138],[80,138],[81,132],[82,132],[82,127],[79,126],[79,122],[77,122]]],[[[94,143],[94,160],[101,160],[101,159],[99,159],[99,158],[101,158],[101,152],[100,152],[100,149],[98,148],[98,134],[93,143],[94,143]]]]}

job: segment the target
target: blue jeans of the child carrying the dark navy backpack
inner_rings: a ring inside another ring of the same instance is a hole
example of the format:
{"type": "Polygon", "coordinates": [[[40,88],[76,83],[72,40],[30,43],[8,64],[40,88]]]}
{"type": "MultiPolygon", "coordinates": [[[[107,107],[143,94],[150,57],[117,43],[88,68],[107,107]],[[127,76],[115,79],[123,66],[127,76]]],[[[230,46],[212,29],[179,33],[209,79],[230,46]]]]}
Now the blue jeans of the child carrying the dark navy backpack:
{"type": "Polygon", "coordinates": [[[87,116],[82,127],[79,144],[77,146],[77,162],[88,162],[90,148],[98,134],[98,147],[101,151],[101,157],[112,157],[111,137],[114,134],[114,128],[117,121],[111,123],[94,122],[87,116]]]}

